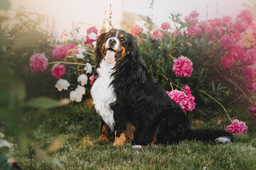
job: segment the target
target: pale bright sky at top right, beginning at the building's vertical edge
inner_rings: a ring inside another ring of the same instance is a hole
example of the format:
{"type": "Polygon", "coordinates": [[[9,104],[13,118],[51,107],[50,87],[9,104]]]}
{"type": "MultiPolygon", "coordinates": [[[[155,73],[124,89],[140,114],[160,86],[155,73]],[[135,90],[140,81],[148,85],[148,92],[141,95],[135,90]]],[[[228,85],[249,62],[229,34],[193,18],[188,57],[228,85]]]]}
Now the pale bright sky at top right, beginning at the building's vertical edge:
{"type": "Polygon", "coordinates": [[[220,18],[226,15],[235,18],[244,9],[243,2],[249,0],[154,0],[153,9],[149,6],[152,0],[124,0],[124,11],[151,16],[156,25],[170,21],[170,13],[182,13],[183,17],[191,11],[200,13],[200,19],[220,18]]]}

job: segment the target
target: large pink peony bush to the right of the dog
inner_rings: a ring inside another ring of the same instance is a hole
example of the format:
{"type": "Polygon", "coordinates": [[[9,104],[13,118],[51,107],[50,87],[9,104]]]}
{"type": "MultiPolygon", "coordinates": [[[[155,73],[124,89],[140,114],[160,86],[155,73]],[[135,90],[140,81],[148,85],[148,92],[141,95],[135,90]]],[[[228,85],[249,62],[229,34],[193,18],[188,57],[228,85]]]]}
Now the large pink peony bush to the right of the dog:
{"type": "MultiPolygon", "coordinates": [[[[248,111],[255,118],[256,26],[252,14],[241,11],[234,21],[230,16],[199,21],[198,16],[192,11],[182,21],[181,14],[171,14],[176,28],[163,23],[151,35],[132,29],[149,72],[185,113],[196,110],[194,118],[223,111],[236,114],[233,107],[246,100],[253,104],[248,111]],[[191,87],[186,93],[178,90],[186,84],[191,87]]],[[[232,125],[227,130],[247,132],[245,123],[228,118],[232,125]]]]}

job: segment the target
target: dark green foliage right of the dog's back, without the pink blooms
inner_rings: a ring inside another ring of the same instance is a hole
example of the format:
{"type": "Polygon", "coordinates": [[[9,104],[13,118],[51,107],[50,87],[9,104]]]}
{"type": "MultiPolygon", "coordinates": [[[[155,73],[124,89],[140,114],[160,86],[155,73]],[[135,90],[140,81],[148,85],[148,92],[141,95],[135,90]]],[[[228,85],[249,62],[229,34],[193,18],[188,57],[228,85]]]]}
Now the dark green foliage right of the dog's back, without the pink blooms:
{"type": "Polygon", "coordinates": [[[225,49],[220,45],[220,41],[209,40],[208,35],[203,33],[197,38],[195,35],[187,35],[184,30],[194,23],[181,21],[180,13],[171,14],[169,18],[174,22],[174,32],[160,30],[164,36],[156,40],[150,33],[144,33],[142,40],[138,41],[149,73],[166,91],[178,89],[177,86],[183,88],[188,84],[196,98],[196,110],[192,112],[195,118],[207,119],[215,117],[217,113],[225,113],[213,98],[230,111],[235,103],[241,102],[245,97],[223,78],[225,70],[220,59],[225,49]],[[176,77],[172,71],[174,59],[181,55],[193,62],[193,72],[189,78],[176,77]]]}

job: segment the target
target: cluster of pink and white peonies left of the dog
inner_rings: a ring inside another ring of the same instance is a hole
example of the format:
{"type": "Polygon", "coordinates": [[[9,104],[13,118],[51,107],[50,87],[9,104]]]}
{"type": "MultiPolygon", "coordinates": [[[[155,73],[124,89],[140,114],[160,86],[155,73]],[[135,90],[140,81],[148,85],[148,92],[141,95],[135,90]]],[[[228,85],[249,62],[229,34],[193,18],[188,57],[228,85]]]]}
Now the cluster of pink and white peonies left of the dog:
{"type": "MultiPolygon", "coordinates": [[[[85,87],[90,90],[93,79],[92,67],[94,61],[93,48],[97,40],[97,28],[87,29],[87,35],[78,36],[79,26],[74,26],[70,31],[70,39],[58,40],[58,35],[52,36],[50,40],[53,50],[51,55],[32,55],[31,70],[33,72],[45,72],[50,69],[53,77],[58,79],[55,88],[58,91],[68,91],[63,96],[68,96],[70,101],[81,102],[85,95],[85,87]],[[61,43],[60,43],[61,42],[61,43]],[[53,65],[52,68],[49,65],[53,65]],[[90,85],[88,81],[90,81],[90,85]]],[[[89,93],[88,93],[89,94],[89,93]]]]}

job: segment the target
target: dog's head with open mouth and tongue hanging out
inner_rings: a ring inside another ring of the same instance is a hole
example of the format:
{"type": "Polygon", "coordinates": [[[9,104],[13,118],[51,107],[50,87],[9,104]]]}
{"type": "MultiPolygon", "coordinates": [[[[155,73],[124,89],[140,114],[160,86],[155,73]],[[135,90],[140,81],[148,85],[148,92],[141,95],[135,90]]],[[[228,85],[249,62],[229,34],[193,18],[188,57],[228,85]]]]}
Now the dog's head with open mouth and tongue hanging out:
{"type": "Polygon", "coordinates": [[[124,30],[112,29],[97,38],[95,64],[99,66],[102,60],[117,63],[129,55],[134,55],[134,50],[137,50],[137,43],[132,35],[124,30]]]}

